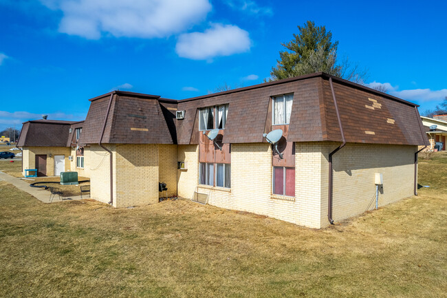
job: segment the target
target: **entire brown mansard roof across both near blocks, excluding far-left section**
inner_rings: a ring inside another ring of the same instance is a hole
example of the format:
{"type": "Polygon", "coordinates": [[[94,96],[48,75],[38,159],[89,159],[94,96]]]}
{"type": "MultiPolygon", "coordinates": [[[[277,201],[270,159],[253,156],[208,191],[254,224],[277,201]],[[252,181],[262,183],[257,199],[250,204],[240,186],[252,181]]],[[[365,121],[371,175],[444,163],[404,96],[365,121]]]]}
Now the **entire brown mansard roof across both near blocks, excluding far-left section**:
{"type": "Polygon", "coordinates": [[[417,105],[322,72],[184,100],[109,92],[90,99],[79,142],[98,144],[110,98],[105,144],[192,144],[197,140],[191,137],[197,130],[198,109],[223,104],[229,105],[224,143],[265,142],[263,133],[274,128],[268,120],[271,98],[289,93],[294,101],[288,141],[341,142],[329,78],[347,142],[428,144],[417,105]],[[175,119],[176,110],[186,111],[184,120],[175,119]]]}

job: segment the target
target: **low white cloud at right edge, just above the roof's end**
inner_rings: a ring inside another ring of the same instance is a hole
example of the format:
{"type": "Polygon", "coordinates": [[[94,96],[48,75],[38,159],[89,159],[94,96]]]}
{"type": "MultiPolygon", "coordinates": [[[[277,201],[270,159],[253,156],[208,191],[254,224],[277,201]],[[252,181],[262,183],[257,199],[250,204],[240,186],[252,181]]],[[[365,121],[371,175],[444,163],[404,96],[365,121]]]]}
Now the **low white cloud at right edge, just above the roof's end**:
{"type": "MultiPolygon", "coordinates": [[[[413,82],[412,82],[413,83],[413,82]]],[[[424,103],[428,101],[441,101],[447,96],[447,89],[432,90],[432,89],[406,89],[399,90],[399,86],[393,86],[390,83],[373,82],[366,84],[367,87],[384,86],[388,90],[387,93],[409,101],[417,101],[424,103]]]]}

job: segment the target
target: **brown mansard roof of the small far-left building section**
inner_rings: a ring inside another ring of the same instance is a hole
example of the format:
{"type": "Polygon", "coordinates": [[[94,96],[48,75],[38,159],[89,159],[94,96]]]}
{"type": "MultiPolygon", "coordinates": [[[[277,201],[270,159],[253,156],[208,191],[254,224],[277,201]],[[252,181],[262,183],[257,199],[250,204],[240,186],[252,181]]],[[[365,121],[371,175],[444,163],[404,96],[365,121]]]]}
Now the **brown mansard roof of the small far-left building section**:
{"type": "Polygon", "coordinates": [[[17,146],[69,147],[69,129],[81,122],[45,119],[27,121],[23,123],[17,146]]]}

